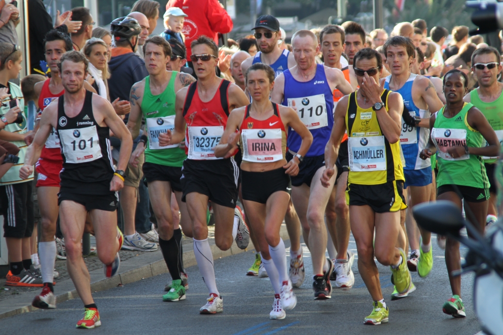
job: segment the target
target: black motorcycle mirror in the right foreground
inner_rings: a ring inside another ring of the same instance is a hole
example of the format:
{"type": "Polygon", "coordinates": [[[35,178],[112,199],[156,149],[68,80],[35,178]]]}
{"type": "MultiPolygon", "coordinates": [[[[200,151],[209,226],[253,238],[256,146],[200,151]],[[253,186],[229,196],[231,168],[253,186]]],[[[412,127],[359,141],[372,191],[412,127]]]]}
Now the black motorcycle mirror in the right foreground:
{"type": "Polygon", "coordinates": [[[412,215],[421,228],[440,235],[458,235],[465,226],[461,210],[447,200],[416,205],[412,215]]]}

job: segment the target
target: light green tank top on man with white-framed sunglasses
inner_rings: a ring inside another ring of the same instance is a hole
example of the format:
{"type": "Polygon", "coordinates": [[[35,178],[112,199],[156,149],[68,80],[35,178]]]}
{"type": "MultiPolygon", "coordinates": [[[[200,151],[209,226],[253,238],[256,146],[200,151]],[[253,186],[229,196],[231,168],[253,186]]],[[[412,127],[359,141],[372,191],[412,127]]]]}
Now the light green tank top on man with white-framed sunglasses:
{"type": "MultiPolygon", "coordinates": [[[[480,100],[478,90],[470,92],[471,103],[477,107],[482,114],[484,114],[487,121],[498,137],[499,143],[503,143],[503,92],[499,95],[498,99],[493,102],[486,103],[480,100]]],[[[487,142],[485,142],[487,145],[487,142]]],[[[482,157],[485,163],[494,163],[498,157],[482,157]]]]}

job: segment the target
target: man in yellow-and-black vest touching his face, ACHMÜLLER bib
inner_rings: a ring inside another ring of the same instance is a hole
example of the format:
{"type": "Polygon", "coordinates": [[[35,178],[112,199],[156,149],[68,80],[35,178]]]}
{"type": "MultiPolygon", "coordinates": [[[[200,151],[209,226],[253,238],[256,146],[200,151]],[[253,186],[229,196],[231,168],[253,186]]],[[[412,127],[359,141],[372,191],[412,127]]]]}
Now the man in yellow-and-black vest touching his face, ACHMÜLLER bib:
{"type": "Polygon", "coordinates": [[[382,58],[376,50],[361,49],[354,56],[353,67],[360,89],[337,104],[321,183],[326,188],[333,183],[337,174],[334,165],[347,129],[350,171],[346,199],[358,250],[358,269],[373,300],[373,311],[364,323],[381,324],[388,322],[389,311],[374,257],[382,265],[391,266],[400,292],[411,285],[405,254],[395,247],[401,230],[399,211],[406,208],[401,193],[404,177],[399,144],[403,100],[379,85],[382,58]]]}

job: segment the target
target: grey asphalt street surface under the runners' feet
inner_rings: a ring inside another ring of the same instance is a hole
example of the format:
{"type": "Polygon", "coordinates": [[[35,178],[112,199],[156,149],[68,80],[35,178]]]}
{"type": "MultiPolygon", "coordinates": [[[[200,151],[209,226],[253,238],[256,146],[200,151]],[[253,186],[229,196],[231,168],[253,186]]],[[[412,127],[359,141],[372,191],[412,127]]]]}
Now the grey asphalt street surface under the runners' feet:
{"type": "MultiPolygon", "coordinates": [[[[443,250],[435,238],[434,268],[426,279],[412,275],[417,290],[409,297],[391,301],[393,286],[389,268],[379,266],[381,285],[390,308],[389,323],[378,326],[363,324],[370,314],[372,301],[358,267],[353,265],[355,286],[348,291],[335,290],[332,298],[313,300],[311,289],[311,260],[304,247],[306,280],[295,289],[298,303],[287,311],[283,320],[270,320],[273,290],[268,278],[245,276],[254,254],[238,254],[215,261],[215,271],[224,312],[216,315],[200,315],[199,308],[206,303],[208,292],[196,267],[187,269],[190,289],[187,299],[180,302],[162,302],[163,288],[169,275],[159,275],[136,283],[94,294],[100,310],[102,325],[87,330],[94,334],[221,334],[221,335],[269,335],[269,334],[456,334],[474,335],[480,330],[472,306],[472,275],[462,280],[462,297],[467,317],[455,319],[442,313],[442,304],[450,297],[443,250]]],[[[289,243],[286,243],[289,246],[289,243]]],[[[356,253],[351,237],[350,248],[356,253]]],[[[288,250],[288,249],[287,249],[288,250]]],[[[288,252],[288,251],[287,251],[288,252]]],[[[462,255],[466,249],[462,250],[462,255]]],[[[57,286],[56,286],[57,290],[57,286]]],[[[82,316],[79,299],[58,304],[55,310],[39,310],[5,318],[4,329],[22,329],[42,334],[72,334],[86,330],[75,329],[82,316]],[[20,328],[21,326],[21,328],[20,328]]]]}

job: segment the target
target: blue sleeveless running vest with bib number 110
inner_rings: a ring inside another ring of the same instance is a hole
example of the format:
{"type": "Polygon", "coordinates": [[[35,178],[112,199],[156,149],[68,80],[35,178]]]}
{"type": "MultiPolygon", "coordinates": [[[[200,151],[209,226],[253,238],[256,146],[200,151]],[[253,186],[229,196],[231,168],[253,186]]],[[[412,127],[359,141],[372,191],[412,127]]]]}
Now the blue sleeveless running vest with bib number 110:
{"type": "MultiPolygon", "coordinates": [[[[290,70],[284,71],[283,75],[283,106],[292,107],[292,102],[295,101],[300,120],[313,135],[313,143],[306,157],[323,155],[333,126],[333,96],[325,76],[325,68],[323,64],[317,64],[314,78],[305,82],[295,80],[290,70]]],[[[301,142],[301,137],[289,127],[288,148],[297,152],[301,142]]]]}

